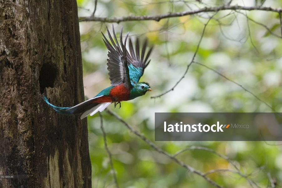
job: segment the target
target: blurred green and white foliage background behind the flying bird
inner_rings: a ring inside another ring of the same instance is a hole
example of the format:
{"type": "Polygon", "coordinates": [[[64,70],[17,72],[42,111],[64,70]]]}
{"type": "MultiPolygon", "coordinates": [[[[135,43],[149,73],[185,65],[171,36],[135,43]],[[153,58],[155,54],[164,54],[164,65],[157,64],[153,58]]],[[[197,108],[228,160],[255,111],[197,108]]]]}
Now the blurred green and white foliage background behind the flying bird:
{"type": "MultiPolygon", "coordinates": [[[[94,0],[77,0],[79,17],[93,13],[94,0]]],[[[98,0],[95,16],[158,15],[202,7],[219,6],[227,1],[184,0],[98,0]]],[[[231,5],[255,6],[261,1],[234,0],[231,5]]],[[[282,1],[267,0],[266,7],[280,8],[282,1]]],[[[134,100],[121,102],[120,109],[108,108],[154,142],[154,112],[273,112],[242,87],[206,67],[193,63],[185,78],[171,89],[184,74],[195,53],[204,24],[214,13],[156,21],[130,21],[113,27],[135,41],[148,38],[154,44],[151,62],[141,81],[149,82],[152,91],[134,100]]],[[[85,95],[94,97],[110,86],[107,71],[107,48],[102,34],[111,23],[80,22],[81,50],[85,95]]],[[[282,111],[282,43],[278,13],[267,11],[220,11],[209,22],[195,61],[204,64],[242,85],[275,111],[282,111]],[[248,18],[246,17],[248,16],[248,18]],[[270,33],[264,24],[272,32],[270,33]]],[[[187,171],[167,156],[156,152],[131,133],[117,119],[102,112],[107,144],[112,154],[118,184],[126,188],[214,187],[201,176],[187,171]]],[[[109,157],[104,148],[99,114],[88,116],[89,150],[92,164],[92,187],[116,187],[109,157]]],[[[259,187],[282,186],[282,152],[279,142],[154,142],[174,154],[191,146],[204,146],[224,154],[259,187]]],[[[177,156],[187,165],[207,172],[234,167],[227,160],[208,151],[189,150],[177,156]]],[[[207,175],[223,187],[252,187],[231,172],[207,175]]],[[[253,187],[257,187],[253,185],[253,187]]]]}

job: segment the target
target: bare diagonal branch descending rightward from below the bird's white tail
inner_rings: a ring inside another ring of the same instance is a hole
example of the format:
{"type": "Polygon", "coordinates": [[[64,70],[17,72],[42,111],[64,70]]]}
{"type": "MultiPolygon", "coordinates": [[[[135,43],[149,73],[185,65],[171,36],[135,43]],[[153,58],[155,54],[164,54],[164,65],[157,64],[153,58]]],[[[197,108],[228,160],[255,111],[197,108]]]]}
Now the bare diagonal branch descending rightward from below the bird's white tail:
{"type": "Polygon", "coordinates": [[[120,122],[122,122],[131,132],[133,132],[136,136],[138,136],[139,138],[141,138],[142,140],[144,140],[147,144],[149,144],[149,146],[151,146],[153,149],[155,149],[156,151],[158,151],[159,153],[162,153],[166,156],[168,156],[170,159],[174,160],[176,163],[178,163],[179,165],[181,165],[182,167],[186,168],[187,170],[189,170],[190,172],[200,175],[201,177],[203,177],[205,180],[207,180],[208,182],[210,182],[212,185],[214,185],[215,187],[218,188],[223,188],[222,186],[218,185],[216,182],[214,182],[213,180],[211,180],[210,178],[206,177],[206,175],[204,175],[204,173],[194,169],[193,167],[186,165],[184,162],[180,161],[179,159],[176,159],[173,155],[168,154],[167,152],[165,152],[164,150],[160,149],[157,145],[155,145],[153,142],[151,142],[148,138],[146,138],[144,135],[142,135],[141,133],[139,133],[138,131],[136,131],[131,125],[129,125],[127,122],[125,122],[120,116],[118,116],[116,113],[108,110],[106,108],[106,112],[109,113],[110,115],[112,115],[113,117],[115,117],[117,120],[119,120],[120,122]]]}

